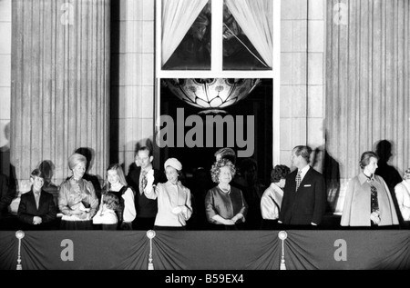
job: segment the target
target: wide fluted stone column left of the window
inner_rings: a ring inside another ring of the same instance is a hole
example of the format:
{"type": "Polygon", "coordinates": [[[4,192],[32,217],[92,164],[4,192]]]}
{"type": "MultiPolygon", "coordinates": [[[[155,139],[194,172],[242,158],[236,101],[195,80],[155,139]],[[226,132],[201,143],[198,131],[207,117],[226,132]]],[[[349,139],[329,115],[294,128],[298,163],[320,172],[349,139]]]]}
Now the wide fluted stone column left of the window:
{"type": "Polygon", "coordinates": [[[43,161],[61,184],[68,157],[92,154],[104,178],[109,143],[110,0],[14,0],[11,164],[25,192],[43,161]],[[22,182],[23,181],[23,182],[22,182]]]}

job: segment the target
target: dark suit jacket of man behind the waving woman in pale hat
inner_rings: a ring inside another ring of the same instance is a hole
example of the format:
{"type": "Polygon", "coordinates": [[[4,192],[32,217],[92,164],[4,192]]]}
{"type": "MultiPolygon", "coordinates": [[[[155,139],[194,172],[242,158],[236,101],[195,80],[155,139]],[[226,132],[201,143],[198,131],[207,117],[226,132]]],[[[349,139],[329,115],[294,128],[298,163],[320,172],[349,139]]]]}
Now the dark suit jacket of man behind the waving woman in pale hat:
{"type": "MultiPolygon", "coordinates": [[[[154,169],[154,184],[159,184],[163,181],[162,173],[154,169]]],[[[138,218],[155,218],[158,212],[157,199],[151,200],[147,198],[143,191],[139,191],[139,175],[141,174],[141,167],[133,167],[129,170],[127,175],[127,183],[136,192],[135,195],[135,207],[137,209],[138,218]]]]}

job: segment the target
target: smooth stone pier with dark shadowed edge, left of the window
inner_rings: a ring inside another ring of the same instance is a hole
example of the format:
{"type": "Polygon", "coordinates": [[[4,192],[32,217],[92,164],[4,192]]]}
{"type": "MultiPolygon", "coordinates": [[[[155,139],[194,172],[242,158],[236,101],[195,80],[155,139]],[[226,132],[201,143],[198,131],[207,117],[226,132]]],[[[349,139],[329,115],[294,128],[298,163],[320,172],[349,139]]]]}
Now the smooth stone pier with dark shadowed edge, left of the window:
{"type": "Polygon", "coordinates": [[[155,0],[113,1],[112,15],[110,161],[128,174],[137,147],[154,139],[155,0]]]}

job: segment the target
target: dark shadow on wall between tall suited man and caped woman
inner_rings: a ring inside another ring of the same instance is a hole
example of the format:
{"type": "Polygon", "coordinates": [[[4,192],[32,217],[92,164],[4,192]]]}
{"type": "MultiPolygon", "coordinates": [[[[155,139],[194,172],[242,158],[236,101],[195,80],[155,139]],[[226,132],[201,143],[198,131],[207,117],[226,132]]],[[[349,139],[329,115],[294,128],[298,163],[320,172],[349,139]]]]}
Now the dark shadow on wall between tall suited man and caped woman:
{"type": "Polygon", "coordinates": [[[327,150],[327,130],[324,133],[324,146],[313,151],[313,166],[322,171],[327,192],[326,212],[333,213],[340,196],[340,164],[327,150]]]}

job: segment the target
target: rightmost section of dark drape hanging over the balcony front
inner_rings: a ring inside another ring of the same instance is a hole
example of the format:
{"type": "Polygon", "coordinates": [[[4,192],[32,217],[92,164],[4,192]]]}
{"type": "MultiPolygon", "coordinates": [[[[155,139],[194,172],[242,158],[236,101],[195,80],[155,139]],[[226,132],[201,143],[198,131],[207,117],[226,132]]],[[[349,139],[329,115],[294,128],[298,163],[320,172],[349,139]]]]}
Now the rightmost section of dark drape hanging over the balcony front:
{"type": "Polygon", "coordinates": [[[397,230],[290,231],[285,242],[286,268],[406,270],[410,268],[409,236],[408,231],[397,230]],[[345,256],[345,261],[335,254],[345,256]]]}

